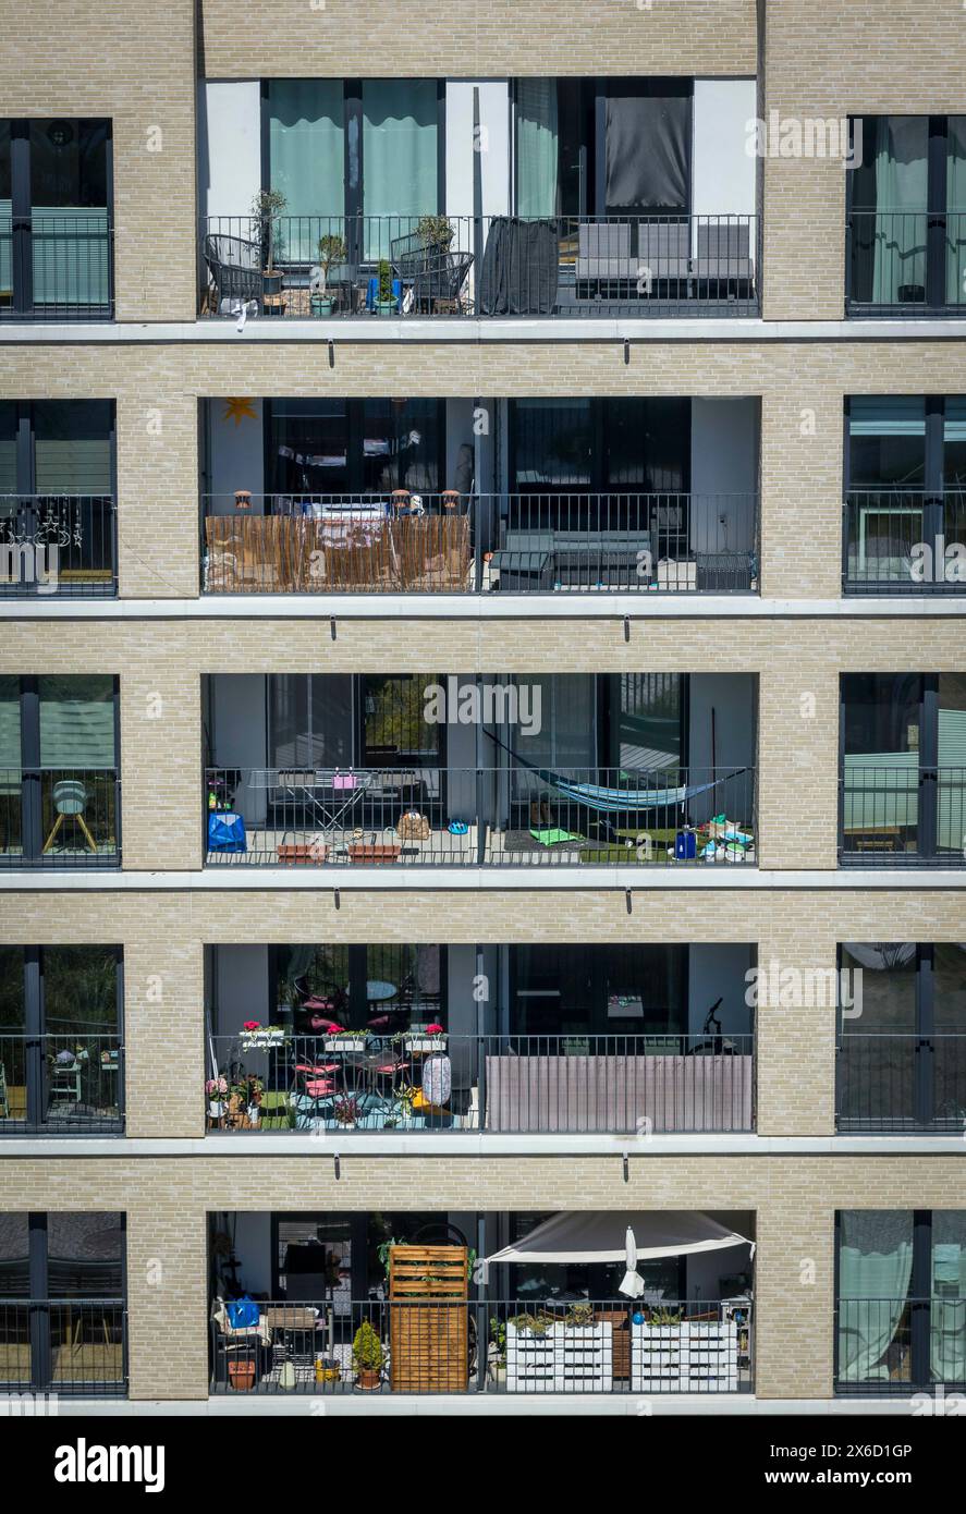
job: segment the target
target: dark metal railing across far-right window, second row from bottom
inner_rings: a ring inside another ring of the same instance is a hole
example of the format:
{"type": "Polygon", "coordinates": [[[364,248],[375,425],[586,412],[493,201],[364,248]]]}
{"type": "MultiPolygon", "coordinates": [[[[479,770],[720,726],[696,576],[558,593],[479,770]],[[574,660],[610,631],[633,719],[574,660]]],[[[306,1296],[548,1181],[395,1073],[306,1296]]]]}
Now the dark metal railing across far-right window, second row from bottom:
{"type": "Polygon", "coordinates": [[[842,1131],[966,1129],[966,1036],[848,1031],[837,1048],[842,1131]]]}

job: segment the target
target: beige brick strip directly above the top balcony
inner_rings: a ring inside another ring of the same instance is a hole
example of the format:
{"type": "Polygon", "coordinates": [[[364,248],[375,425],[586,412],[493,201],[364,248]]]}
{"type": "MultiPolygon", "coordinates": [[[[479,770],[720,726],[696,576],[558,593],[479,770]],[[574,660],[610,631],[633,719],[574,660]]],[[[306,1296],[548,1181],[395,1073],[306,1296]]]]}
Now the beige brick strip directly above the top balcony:
{"type": "Polygon", "coordinates": [[[201,0],[209,79],[753,74],[754,0],[201,0]]]}

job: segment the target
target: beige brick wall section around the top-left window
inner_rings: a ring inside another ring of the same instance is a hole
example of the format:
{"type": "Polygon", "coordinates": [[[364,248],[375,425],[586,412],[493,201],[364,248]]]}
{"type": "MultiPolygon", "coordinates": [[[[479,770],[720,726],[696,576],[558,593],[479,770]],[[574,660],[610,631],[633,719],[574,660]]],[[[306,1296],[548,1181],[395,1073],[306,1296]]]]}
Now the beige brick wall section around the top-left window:
{"type": "Polygon", "coordinates": [[[3,117],[114,123],[117,315],[189,321],[197,309],[194,0],[11,12],[3,117]]]}

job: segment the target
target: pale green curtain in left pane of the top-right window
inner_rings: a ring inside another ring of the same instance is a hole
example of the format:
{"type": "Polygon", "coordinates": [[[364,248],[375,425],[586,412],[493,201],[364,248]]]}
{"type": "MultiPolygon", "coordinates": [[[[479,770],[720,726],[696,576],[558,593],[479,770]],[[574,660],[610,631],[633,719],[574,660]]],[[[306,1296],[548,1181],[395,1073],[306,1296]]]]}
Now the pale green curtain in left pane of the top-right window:
{"type": "MultiPolygon", "coordinates": [[[[868,132],[871,118],[866,117],[868,132]]],[[[919,115],[877,117],[874,142],[863,151],[875,162],[875,256],[872,300],[898,304],[899,291],[925,292],[928,120],[919,115]]]]}

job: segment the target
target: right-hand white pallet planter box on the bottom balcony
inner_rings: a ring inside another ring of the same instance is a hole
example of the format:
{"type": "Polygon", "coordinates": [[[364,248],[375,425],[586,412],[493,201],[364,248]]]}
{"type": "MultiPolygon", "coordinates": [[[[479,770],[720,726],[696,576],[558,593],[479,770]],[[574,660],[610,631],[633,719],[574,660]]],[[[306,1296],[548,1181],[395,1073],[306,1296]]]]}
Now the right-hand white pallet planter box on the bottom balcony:
{"type": "Polygon", "coordinates": [[[734,1320],[683,1325],[634,1325],[630,1337],[633,1393],[734,1393],[737,1326],[734,1320]]]}

